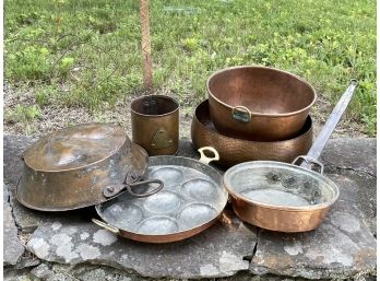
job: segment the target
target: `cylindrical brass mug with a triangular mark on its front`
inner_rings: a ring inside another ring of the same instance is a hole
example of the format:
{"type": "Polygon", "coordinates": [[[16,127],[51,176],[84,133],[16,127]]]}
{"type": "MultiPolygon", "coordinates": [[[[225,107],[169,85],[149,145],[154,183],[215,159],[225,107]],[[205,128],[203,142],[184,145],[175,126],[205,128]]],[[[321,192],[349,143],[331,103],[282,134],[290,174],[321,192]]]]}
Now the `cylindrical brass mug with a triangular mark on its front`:
{"type": "Polygon", "coordinates": [[[166,95],[146,95],[132,101],[132,141],[150,156],[178,151],[179,104],[166,95]]]}

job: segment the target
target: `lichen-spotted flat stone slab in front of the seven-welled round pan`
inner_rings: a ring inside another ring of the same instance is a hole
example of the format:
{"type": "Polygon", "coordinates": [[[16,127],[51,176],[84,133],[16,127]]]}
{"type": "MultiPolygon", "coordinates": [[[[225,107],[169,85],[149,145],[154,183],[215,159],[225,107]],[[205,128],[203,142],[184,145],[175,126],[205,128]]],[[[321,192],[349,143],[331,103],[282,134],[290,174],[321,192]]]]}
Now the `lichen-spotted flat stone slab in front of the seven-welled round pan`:
{"type": "Polygon", "coordinates": [[[181,242],[147,244],[126,239],[91,222],[43,223],[27,247],[38,258],[70,265],[84,262],[133,270],[144,277],[217,278],[248,270],[256,229],[233,219],[181,242]]]}

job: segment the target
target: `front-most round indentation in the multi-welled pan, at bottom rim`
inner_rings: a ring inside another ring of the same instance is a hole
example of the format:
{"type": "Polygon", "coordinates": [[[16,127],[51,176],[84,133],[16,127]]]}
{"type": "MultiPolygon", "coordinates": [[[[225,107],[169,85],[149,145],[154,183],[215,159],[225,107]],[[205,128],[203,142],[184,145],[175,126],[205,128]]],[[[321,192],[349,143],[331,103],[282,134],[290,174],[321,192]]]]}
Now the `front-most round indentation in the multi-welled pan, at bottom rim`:
{"type": "Polygon", "coordinates": [[[177,222],[166,215],[154,215],[138,225],[138,233],[147,235],[159,235],[175,233],[178,231],[177,222]]]}

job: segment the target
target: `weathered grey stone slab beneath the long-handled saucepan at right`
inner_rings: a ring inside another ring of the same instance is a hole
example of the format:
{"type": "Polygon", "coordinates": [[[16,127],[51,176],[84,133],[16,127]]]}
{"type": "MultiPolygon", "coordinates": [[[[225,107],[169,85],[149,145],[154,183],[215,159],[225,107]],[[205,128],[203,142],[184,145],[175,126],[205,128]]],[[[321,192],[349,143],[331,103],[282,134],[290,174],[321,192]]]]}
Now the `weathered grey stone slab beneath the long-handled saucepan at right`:
{"type": "Polygon", "coordinates": [[[341,197],[324,222],[308,233],[263,231],[250,265],[253,273],[321,279],[376,271],[376,239],[354,203],[358,187],[344,176],[331,178],[341,186],[341,197]]]}

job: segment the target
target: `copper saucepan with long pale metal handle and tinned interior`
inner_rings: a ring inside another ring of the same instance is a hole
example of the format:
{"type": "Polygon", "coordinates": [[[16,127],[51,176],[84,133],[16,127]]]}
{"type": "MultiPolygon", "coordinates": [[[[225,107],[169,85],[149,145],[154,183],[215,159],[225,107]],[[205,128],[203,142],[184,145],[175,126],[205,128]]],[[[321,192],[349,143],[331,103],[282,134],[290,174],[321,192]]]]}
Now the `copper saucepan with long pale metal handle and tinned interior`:
{"type": "Polygon", "coordinates": [[[238,164],[224,175],[236,214],[245,222],[280,232],[305,232],[318,227],[337,200],[336,184],[323,176],[317,161],[344,113],[356,86],[353,80],[306,156],[293,164],[253,161],[238,164]],[[301,162],[300,166],[297,166],[301,162]],[[318,167],[318,171],[312,171],[318,167]]]}

